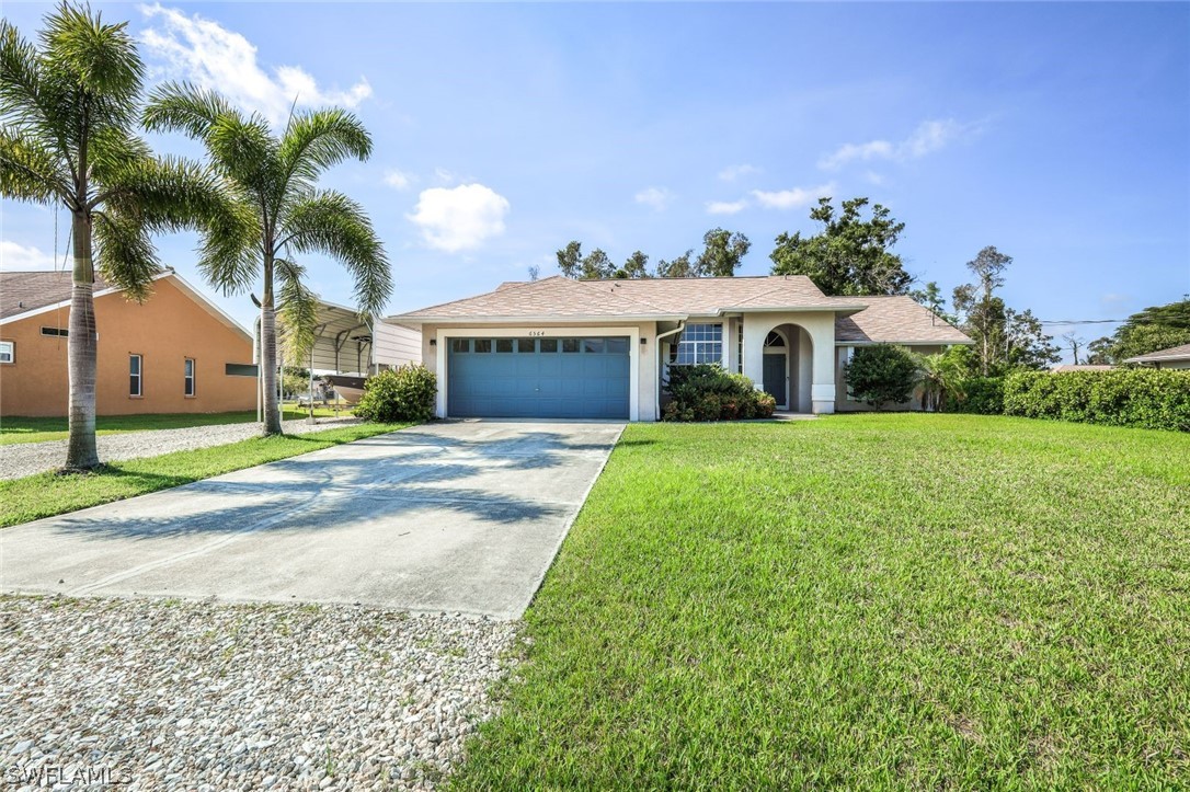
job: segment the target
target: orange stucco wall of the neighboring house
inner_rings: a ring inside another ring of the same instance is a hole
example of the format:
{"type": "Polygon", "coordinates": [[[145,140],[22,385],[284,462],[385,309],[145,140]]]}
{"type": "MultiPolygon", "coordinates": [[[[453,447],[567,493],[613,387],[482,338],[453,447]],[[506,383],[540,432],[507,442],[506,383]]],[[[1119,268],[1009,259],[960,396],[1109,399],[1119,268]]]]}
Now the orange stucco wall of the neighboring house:
{"type": "MultiPolygon", "coordinates": [[[[0,325],[15,360],[0,364],[0,415],[67,414],[67,340],[42,327],[65,328],[69,309],[0,325]]],[[[256,378],[228,377],[227,363],[252,363],[252,341],[217,320],[168,278],[144,303],[120,293],[95,298],[99,333],[95,409],[99,415],[226,413],[256,407],[256,378]],[[143,358],[143,396],[129,395],[129,356],[143,358]],[[184,394],[186,358],[195,365],[195,395],[184,394]]]]}

